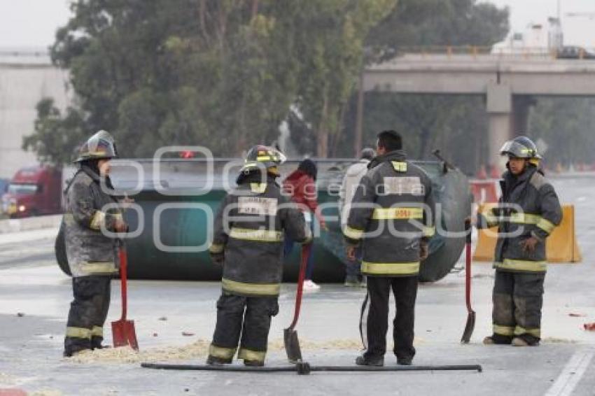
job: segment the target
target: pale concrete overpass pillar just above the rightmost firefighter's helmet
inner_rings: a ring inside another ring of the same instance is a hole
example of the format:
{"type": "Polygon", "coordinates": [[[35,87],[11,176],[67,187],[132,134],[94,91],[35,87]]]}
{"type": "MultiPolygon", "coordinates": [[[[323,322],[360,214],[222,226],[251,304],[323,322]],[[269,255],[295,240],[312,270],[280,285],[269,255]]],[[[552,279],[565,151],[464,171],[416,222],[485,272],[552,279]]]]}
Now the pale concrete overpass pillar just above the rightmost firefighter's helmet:
{"type": "Polygon", "coordinates": [[[486,110],[488,113],[489,166],[504,169],[506,160],[498,150],[512,136],[512,90],[509,85],[489,83],[486,110]]]}

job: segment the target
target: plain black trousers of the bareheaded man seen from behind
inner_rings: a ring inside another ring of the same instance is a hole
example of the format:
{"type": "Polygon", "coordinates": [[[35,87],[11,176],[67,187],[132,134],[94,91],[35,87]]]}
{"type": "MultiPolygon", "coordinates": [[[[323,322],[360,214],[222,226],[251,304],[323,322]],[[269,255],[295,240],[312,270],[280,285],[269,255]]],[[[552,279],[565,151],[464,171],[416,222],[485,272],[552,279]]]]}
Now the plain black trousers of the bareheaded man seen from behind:
{"type": "Polygon", "coordinates": [[[398,360],[412,359],[415,355],[413,327],[417,276],[398,278],[367,276],[370,311],[367,313],[367,351],[364,354],[366,359],[380,358],[386,353],[388,302],[391,289],[396,304],[396,315],[393,320],[393,352],[398,360]]]}

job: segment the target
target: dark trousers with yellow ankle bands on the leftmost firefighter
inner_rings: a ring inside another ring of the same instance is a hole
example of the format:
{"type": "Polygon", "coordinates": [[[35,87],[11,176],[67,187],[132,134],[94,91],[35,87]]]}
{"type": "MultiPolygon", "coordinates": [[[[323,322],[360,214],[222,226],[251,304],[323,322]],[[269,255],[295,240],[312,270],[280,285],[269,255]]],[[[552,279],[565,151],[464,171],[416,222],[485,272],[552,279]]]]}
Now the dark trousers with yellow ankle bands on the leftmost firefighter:
{"type": "Polygon", "coordinates": [[[64,352],[100,348],[111,298],[111,276],[72,278],[72,290],[64,352]]]}

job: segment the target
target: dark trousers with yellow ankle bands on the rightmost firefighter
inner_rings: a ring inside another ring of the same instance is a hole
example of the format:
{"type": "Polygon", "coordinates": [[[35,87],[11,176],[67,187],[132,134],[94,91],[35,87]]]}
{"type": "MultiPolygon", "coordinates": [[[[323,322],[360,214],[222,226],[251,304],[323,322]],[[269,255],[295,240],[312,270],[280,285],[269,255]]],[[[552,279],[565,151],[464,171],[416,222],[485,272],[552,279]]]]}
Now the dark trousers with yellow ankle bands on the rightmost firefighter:
{"type": "Polygon", "coordinates": [[[510,344],[513,337],[537,344],[541,338],[541,309],[545,273],[496,271],[493,285],[493,340],[510,344]]]}

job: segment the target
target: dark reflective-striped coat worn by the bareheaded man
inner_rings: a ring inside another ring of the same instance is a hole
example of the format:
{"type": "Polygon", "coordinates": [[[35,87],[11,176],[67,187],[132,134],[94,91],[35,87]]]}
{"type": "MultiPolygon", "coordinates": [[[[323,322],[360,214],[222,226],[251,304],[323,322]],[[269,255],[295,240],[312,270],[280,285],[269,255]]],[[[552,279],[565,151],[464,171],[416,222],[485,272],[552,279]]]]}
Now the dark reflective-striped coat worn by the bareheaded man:
{"type": "Polygon", "coordinates": [[[374,158],[351,201],[343,233],[362,244],[361,273],[417,276],[420,239],[435,232],[432,184],[402,150],[374,158]]]}

